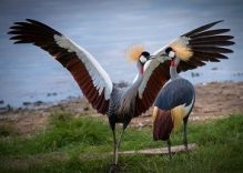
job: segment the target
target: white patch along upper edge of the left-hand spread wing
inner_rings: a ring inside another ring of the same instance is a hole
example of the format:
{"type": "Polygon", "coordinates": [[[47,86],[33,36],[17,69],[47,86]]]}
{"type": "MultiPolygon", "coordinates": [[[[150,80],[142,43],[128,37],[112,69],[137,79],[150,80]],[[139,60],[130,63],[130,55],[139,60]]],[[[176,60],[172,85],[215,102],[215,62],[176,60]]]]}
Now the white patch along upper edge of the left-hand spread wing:
{"type": "Polygon", "coordinates": [[[75,52],[78,58],[85,65],[90,77],[92,78],[93,85],[99,91],[99,94],[101,94],[104,90],[104,98],[105,100],[109,100],[112,92],[112,82],[98,61],[87,50],[79,47],[71,39],[65,38],[64,35],[60,37],[58,34],[54,34],[53,38],[59,47],[67,49],[68,52],[75,52]]]}

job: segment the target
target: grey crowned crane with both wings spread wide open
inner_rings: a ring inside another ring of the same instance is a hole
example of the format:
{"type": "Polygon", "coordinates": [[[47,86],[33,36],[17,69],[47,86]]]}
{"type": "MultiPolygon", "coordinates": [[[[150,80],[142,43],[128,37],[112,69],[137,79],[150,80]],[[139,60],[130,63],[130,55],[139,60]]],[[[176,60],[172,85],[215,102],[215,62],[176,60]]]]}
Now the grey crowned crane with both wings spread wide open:
{"type": "Polygon", "coordinates": [[[130,54],[136,61],[138,75],[126,89],[117,88],[99,62],[87,50],[47,24],[27,19],[27,21],[16,22],[10,27],[9,34],[12,34],[11,40],[14,40],[14,43],[32,43],[49,52],[70,71],[93,109],[108,115],[114,141],[114,166],[111,167],[111,171],[115,171],[118,169],[118,150],[124,130],[133,118],[139,116],[153,104],[160,89],[170,79],[166,48],[173,48],[176,57],[188,60],[179,64],[179,71],[204,65],[205,63],[202,61],[225,59],[226,57],[222,53],[232,51],[216,45],[233,44],[229,41],[233,37],[216,34],[229,30],[205,31],[219,22],[183,34],[152,55],[143,49],[132,49],[130,54]],[[117,123],[123,124],[119,140],[115,135],[117,123]]]}

